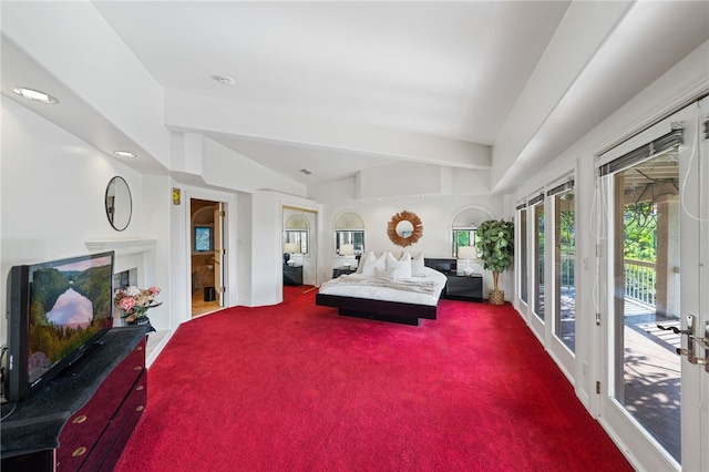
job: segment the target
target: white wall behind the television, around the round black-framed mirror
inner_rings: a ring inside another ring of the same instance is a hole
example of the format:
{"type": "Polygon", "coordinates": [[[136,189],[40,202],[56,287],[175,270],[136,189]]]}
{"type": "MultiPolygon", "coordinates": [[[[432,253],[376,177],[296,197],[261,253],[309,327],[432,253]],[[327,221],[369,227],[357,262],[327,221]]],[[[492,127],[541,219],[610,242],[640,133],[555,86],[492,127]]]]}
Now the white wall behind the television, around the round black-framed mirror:
{"type": "MultiPolygon", "coordinates": [[[[0,304],[6,312],[11,266],[89,254],[85,242],[91,239],[143,238],[148,233],[141,175],[14,101],[3,96],[1,104],[0,304]],[[125,178],[133,197],[131,224],[121,233],[109,224],[104,206],[105,187],[115,175],[125,178]]],[[[2,317],[2,339],[6,324],[2,317]]]]}

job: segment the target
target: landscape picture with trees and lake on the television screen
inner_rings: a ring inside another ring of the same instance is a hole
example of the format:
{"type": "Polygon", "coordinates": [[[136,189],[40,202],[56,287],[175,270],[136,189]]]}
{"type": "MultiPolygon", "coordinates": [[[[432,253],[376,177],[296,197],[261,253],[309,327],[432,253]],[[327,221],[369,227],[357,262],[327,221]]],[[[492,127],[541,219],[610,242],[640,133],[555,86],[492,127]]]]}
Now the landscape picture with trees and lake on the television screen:
{"type": "Polygon", "coordinates": [[[30,383],[113,326],[113,260],[105,256],[37,267],[31,277],[30,383]]]}

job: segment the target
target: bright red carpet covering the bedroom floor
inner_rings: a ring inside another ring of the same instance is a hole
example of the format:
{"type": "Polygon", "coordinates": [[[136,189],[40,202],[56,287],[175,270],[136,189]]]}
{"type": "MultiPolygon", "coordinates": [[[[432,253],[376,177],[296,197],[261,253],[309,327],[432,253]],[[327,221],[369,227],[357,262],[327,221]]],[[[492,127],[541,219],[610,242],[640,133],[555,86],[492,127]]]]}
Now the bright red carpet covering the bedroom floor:
{"type": "Polygon", "coordinates": [[[631,471],[511,306],[420,327],[315,290],[186,322],[117,471],[631,471]]]}

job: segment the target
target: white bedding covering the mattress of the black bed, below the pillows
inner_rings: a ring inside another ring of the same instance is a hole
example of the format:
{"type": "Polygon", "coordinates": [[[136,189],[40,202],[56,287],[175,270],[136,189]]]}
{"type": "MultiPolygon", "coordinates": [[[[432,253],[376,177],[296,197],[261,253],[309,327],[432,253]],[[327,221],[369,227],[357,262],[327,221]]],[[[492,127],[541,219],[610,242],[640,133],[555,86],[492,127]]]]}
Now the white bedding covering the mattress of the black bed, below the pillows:
{"type": "Polygon", "coordinates": [[[320,286],[320,294],[340,297],[368,298],[371,300],[435,306],[445,287],[443,274],[424,267],[425,277],[411,277],[392,281],[382,277],[361,274],[342,275],[320,286]]]}

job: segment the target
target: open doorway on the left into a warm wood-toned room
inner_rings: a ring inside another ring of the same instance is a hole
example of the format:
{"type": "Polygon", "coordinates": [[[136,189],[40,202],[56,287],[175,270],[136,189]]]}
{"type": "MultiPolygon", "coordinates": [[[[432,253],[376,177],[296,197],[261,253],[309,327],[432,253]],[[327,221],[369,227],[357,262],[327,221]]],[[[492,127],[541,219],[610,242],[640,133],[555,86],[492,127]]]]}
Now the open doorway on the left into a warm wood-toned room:
{"type": "Polygon", "coordinates": [[[224,203],[189,199],[192,316],[224,306],[224,203]]]}

